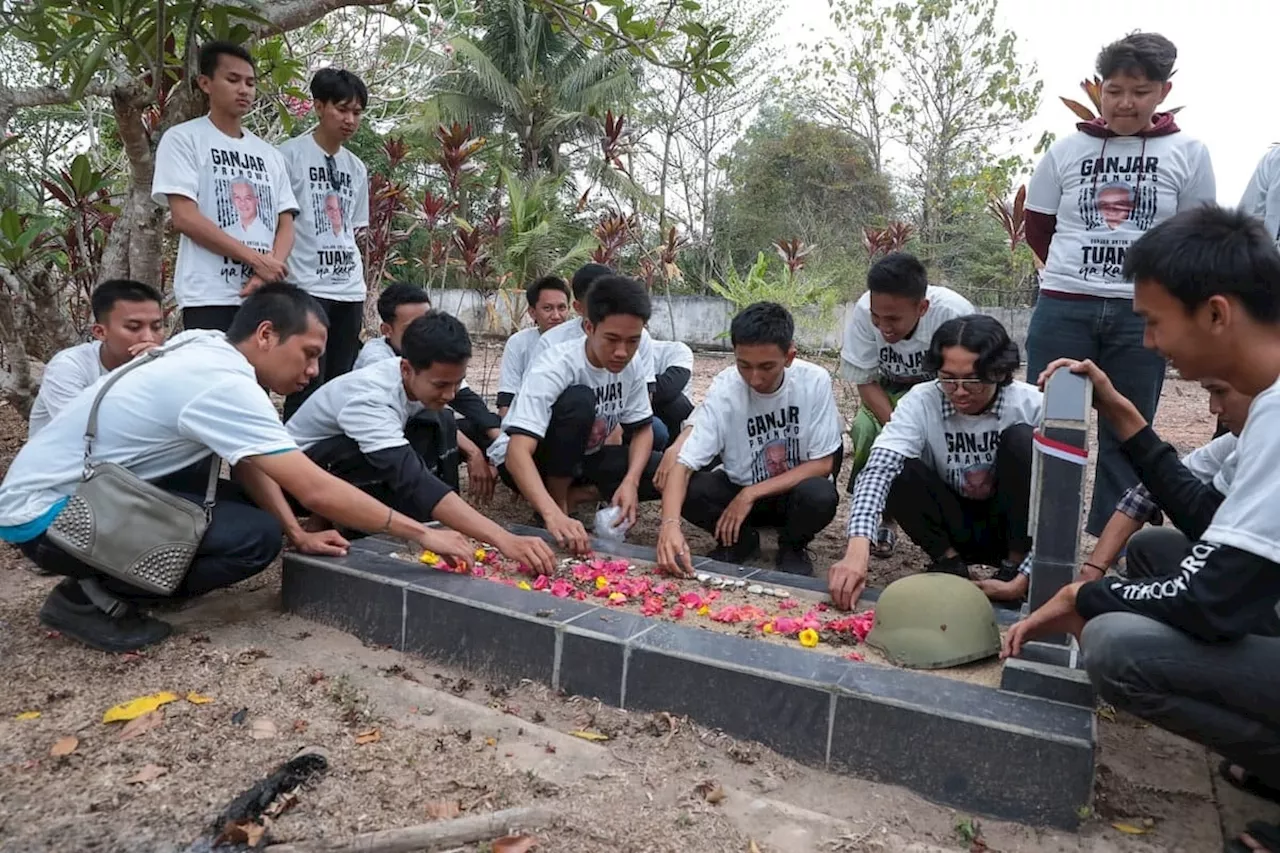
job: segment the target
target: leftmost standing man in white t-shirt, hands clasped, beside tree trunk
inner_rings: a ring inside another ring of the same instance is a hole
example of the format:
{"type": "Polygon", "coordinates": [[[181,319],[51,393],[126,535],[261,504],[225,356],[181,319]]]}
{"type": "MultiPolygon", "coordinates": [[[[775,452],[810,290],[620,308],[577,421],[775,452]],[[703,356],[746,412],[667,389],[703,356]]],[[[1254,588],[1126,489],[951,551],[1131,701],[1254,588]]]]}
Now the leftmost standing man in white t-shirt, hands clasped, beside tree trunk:
{"type": "Polygon", "coordinates": [[[253,58],[241,45],[200,49],[209,114],[165,131],[151,199],[178,240],[173,289],[184,329],[230,327],[241,300],[283,280],[298,204],[279,151],[241,126],[253,106],[253,58]]]}

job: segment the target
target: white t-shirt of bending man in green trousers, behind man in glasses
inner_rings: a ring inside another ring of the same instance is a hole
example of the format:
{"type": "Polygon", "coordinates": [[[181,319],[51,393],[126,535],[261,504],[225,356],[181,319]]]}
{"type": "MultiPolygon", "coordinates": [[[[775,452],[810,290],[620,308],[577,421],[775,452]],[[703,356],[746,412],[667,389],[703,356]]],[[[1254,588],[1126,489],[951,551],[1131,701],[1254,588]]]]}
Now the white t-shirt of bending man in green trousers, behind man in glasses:
{"type": "Polygon", "coordinates": [[[859,384],[883,379],[896,384],[915,384],[929,378],[924,353],[933,333],[947,320],[973,314],[973,304],[950,287],[931,284],[924,297],[929,307],[910,337],[895,343],[872,323],[872,293],[867,291],[854,304],[845,323],[845,341],[840,348],[840,375],[859,384]]]}

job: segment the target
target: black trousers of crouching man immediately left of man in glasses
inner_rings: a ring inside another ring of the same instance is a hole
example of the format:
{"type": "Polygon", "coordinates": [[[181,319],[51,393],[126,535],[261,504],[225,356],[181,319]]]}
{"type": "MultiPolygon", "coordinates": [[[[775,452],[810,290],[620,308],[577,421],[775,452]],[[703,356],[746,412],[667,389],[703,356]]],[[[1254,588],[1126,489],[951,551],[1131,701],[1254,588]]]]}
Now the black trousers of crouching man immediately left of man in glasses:
{"type": "MultiPolygon", "coordinates": [[[[714,534],[721,514],[742,488],[723,470],[698,471],[689,479],[681,515],[714,534]]],[[[838,506],[836,482],[829,476],[810,476],[790,492],[756,501],[739,530],[739,542],[758,542],[759,528],[777,528],[780,549],[803,551],[831,524],[838,506]]]]}

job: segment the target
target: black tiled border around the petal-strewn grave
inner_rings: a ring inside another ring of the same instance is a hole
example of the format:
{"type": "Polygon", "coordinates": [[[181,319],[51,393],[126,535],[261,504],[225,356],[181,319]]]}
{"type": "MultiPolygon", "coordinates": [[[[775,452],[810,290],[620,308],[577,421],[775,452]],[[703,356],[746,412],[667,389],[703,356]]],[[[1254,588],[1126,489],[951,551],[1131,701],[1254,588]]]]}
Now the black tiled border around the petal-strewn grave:
{"type": "MultiPolygon", "coordinates": [[[[654,560],[648,547],[593,546],[654,560]]],[[[859,663],[390,557],[403,549],[372,537],[343,558],[288,553],[284,608],[480,678],[527,678],[626,710],[689,715],[805,763],[968,812],[1074,829],[1092,799],[1097,733],[1092,692],[1088,707],[1073,703],[1078,679],[1073,693],[1056,675],[1019,670],[1015,689],[995,689],[859,663]]],[[[826,592],[812,578],[707,558],[696,567],[826,592]]]]}

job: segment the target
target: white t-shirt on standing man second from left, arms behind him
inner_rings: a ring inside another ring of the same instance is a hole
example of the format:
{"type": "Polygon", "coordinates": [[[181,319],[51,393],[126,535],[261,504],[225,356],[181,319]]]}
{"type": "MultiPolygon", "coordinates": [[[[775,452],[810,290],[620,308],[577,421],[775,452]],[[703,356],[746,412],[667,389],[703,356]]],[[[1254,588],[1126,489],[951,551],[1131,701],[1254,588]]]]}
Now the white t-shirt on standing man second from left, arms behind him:
{"type": "Polygon", "coordinates": [[[369,169],[339,149],[330,168],[312,133],[287,140],[280,155],[298,200],[289,280],[337,302],[365,298],[365,268],[356,231],[369,227],[369,169]]]}

